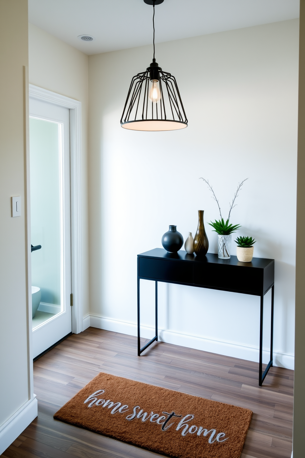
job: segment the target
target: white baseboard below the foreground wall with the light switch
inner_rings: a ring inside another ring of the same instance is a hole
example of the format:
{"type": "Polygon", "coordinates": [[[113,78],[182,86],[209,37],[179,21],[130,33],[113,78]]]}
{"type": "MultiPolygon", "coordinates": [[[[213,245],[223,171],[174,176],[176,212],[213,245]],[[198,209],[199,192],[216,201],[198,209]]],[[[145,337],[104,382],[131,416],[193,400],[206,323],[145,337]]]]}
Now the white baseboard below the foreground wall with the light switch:
{"type": "MultiPolygon", "coordinates": [[[[34,395],[35,396],[35,395],[34,395]]],[[[3,425],[0,426],[0,455],[37,417],[37,399],[27,401],[3,425]]]]}

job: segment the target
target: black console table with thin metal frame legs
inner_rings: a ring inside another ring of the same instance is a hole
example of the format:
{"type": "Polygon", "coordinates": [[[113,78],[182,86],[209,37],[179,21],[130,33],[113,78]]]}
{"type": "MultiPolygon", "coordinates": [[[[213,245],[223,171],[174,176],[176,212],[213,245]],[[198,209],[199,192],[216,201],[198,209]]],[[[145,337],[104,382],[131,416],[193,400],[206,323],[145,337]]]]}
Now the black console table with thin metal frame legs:
{"type": "Polygon", "coordinates": [[[259,386],[262,386],[273,363],[273,303],[274,259],[253,258],[252,262],[239,262],[236,256],[219,259],[208,253],[199,257],[186,251],[168,253],[155,248],[138,255],[138,356],[158,340],[158,282],[176,283],[200,288],[220,289],[234,293],[252,294],[261,298],[259,331],[259,386]],[[155,337],[140,347],[140,278],[155,281],[155,337]],[[262,319],[264,295],[271,293],[271,342],[270,360],[262,373],[262,319]]]}

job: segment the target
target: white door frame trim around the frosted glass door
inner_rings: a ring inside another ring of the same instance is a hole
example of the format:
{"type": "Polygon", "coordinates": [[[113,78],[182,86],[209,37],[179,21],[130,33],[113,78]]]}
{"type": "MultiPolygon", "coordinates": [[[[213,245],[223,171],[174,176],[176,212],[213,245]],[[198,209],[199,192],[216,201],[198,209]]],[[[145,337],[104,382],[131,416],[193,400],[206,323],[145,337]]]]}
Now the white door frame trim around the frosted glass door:
{"type": "MultiPolygon", "coordinates": [[[[83,330],[82,263],[81,263],[81,102],[29,84],[29,97],[59,105],[70,110],[70,187],[71,187],[71,280],[73,293],[72,333],[83,330]]],[[[30,183],[27,183],[30,195],[30,183]]],[[[29,234],[30,235],[30,234],[29,234]]],[[[29,285],[31,291],[31,285],[29,285]]],[[[31,329],[32,331],[32,329],[31,329]]]]}

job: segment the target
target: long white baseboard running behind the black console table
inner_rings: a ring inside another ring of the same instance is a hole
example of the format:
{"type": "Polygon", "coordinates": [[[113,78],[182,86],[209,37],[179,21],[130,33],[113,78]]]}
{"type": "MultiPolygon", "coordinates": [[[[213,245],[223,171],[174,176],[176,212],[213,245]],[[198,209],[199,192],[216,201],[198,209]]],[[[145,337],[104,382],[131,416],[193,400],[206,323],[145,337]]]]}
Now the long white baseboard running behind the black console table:
{"type": "MultiPolygon", "coordinates": [[[[113,320],[105,316],[87,315],[83,321],[83,329],[89,326],[106,329],[107,331],[116,333],[129,334],[132,336],[137,335],[136,323],[113,320]]],[[[154,329],[153,327],[141,326],[141,337],[152,338],[155,335],[154,329]]],[[[258,362],[259,358],[258,346],[243,345],[225,340],[213,340],[201,336],[177,333],[168,329],[159,329],[158,338],[160,341],[167,342],[168,344],[182,345],[183,347],[209,351],[216,354],[224,354],[242,360],[258,362]]],[[[263,353],[264,361],[266,360],[266,362],[268,362],[268,351],[263,353]]],[[[273,351],[273,365],[285,367],[286,369],[294,369],[294,355],[281,351],[273,351]]]]}

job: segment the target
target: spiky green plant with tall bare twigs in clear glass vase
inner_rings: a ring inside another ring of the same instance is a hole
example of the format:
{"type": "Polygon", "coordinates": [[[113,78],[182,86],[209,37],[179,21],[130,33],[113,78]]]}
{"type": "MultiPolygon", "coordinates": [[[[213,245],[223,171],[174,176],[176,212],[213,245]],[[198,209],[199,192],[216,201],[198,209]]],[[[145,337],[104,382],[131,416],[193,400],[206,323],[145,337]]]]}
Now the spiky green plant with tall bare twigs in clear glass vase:
{"type": "Polygon", "coordinates": [[[246,180],[243,180],[241,183],[238,184],[238,188],[237,188],[237,191],[235,192],[233,201],[232,201],[232,203],[230,205],[229,215],[228,215],[228,218],[226,219],[226,221],[224,220],[224,218],[221,215],[218,199],[216,198],[215,193],[213,191],[213,188],[209,184],[209,181],[205,180],[204,178],[201,178],[201,180],[203,180],[209,186],[210,190],[213,193],[213,198],[217,202],[217,205],[218,205],[218,208],[219,208],[220,219],[219,220],[215,219],[214,222],[211,221],[210,223],[208,223],[210,226],[213,227],[213,230],[218,234],[218,236],[217,236],[217,239],[218,239],[217,240],[217,242],[218,242],[218,257],[219,257],[219,259],[230,259],[230,257],[231,257],[231,240],[232,240],[232,235],[231,234],[233,232],[236,232],[236,230],[241,227],[240,224],[234,224],[234,225],[233,224],[229,224],[230,214],[231,214],[232,208],[235,207],[234,202],[235,202],[235,199],[236,199],[236,197],[238,195],[238,191],[241,189],[241,186],[247,180],[247,178],[246,178],[246,180]]]}

